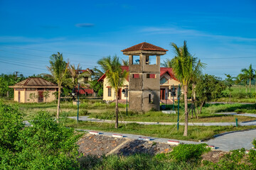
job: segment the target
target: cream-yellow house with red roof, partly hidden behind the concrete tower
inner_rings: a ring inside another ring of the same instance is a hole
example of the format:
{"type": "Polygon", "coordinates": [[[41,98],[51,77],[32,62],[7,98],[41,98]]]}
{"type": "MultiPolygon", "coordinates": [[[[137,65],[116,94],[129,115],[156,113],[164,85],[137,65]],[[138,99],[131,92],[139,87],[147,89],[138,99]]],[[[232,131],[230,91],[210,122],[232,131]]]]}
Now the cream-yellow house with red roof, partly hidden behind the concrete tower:
{"type": "MultiPolygon", "coordinates": [[[[128,66],[122,66],[122,70],[127,70],[129,72],[129,67],[128,66]]],[[[136,77],[135,77],[136,78],[136,77]]],[[[149,79],[155,79],[153,75],[149,75],[149,79]]],[[[114,101],[115,100],[115,95],[114,95],[114,88],[110,86],[110,84],[107,82],[106,75],[103,74],[102,77],[98,81],[103,81],[103,100],[104,101],[114,101]]],[[[172,101],[173,96],[171,96],[171,91],[173,90],[174,87],[174,100],[177,99],[177,91],[178,91],[178,84],[181,84],[175,77],[174,77],[174,72],[172,71],[171,68],[168,67],[161,67],[160,68],[160,100],[169,100],[172,101]]],[[[119,89],[119,100],[126,100],[129,96],[126,96],[127,93],[122,94],[122,90],[124,89],[125,91],[127,90],[127,86],[129,89],[129,77],[124,81],[124,85],[122,88],[119,89]]],[[[149,84],[150,86],[150,84],[149,84]]]]}

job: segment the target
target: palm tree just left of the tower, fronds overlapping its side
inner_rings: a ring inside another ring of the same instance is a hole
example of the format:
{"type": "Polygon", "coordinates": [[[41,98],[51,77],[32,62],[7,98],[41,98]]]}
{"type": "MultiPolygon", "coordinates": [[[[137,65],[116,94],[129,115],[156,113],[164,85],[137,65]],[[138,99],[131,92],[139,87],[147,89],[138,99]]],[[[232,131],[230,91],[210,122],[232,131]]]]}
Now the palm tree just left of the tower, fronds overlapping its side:
{"type": "Polygon", "coordinates": [[[122,71],[121,63],[119,62],[119,57],[103,57],[101,60],[97,62],[100,64],[102,69],[106,73],[107,82],[114,88],[114,93],[116,96],[116,122],[115,128],[118,128],[118,90],[124,84],[125,78],[128,76],[128,72],[126,70],[122,71]]]}

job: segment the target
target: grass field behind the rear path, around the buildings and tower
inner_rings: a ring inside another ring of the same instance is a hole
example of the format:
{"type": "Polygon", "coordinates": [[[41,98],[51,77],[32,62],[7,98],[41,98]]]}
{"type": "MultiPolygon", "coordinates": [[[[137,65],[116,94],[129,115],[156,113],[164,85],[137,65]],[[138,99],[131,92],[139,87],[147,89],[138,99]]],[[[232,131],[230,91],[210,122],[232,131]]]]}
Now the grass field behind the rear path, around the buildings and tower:
{"type": "MultiPolygon", "coordinates": [[[[4,101],[5,103],[16,104],[18,108],[20,108],[26,116],[23,120],[31,120],[33,115],[35,115],[38,111],[44,110],[48,111],[53,117],[56,114],[57,103],[16,103],[14,101],[4,101]]],[[[114,104],[106,104],[102,103],[102,101],[85,101],[80,104],[79,115],[88,115],[91,118],[101,118],[101,119],[114,119],[114,104]]],[[[75,116],[77,115],[77,106],[73,105],[72,102],[61,102],[61,115],[67,116],[75,116]]],[[[126,116],[126,106],[124,104],[119,103],[119,119],[120,120],[129,120],[129,121],[144,121],[144,122],[176,122],[177,115],[164,114],[161,111],[149,111],[146,113],[136,113],[136,112],[128,112],[128,116],[126,116]]],[[[172,106],[169,106],[172,108],[172,106]]],[[[189,106],[188,106],[189,107],[189,106]]],[[[175,106],[175,110],[177,111],[177,105],[175,106]]],[[[203,107],[201,115],[198,115],[199,119],[191,118],[189,116],[189,122],[235,122],[235,118],[238,118],[238,121],[248,121],[255,120],[252,117],[245,117],[240,115],[216,115],[215,113],[221,112],[231,112],[231,111],[245,111],[246,113],[256,113],[256,104],[253,105],[245,105],[245,104],[206,104],[203,107]]],[[[181,104],[180,106],[180,121],[184,121],[184,106],[181,104]]]]}

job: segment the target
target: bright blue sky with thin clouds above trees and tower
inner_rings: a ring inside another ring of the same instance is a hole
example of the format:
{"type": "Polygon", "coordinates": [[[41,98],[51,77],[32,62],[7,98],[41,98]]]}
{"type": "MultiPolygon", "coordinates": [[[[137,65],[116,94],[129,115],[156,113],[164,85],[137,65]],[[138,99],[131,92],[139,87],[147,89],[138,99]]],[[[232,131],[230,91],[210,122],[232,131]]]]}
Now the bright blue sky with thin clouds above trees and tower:
{"type": "Polygon", "coordinates": [[[256,69],[256,1],[12,1],[0,0],[0,74],[48,72],[63,52],[82,69],[101,57],[149,42],[169,50],[187,41],[205,73],[236,76],[256,69]]]}

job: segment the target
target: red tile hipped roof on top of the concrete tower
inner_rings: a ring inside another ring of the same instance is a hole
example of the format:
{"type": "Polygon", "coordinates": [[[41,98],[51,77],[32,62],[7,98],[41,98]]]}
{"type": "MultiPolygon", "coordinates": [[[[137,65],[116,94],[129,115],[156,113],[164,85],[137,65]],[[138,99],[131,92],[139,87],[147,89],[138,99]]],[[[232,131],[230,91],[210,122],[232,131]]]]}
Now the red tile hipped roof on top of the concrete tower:
{"type": "Polygon", "coordinates": [[[127,49],[121,50],[122,52],[129,52],[129,51],[138,51],[138,50],[147,50],[147,51],[163,51],[166,52],[164,48],[158,47],[156,45],[149,44],[148,42],[142,42],[127,49]]]}

